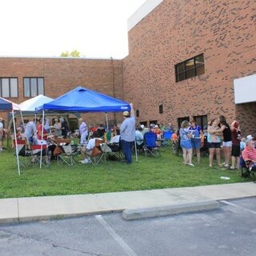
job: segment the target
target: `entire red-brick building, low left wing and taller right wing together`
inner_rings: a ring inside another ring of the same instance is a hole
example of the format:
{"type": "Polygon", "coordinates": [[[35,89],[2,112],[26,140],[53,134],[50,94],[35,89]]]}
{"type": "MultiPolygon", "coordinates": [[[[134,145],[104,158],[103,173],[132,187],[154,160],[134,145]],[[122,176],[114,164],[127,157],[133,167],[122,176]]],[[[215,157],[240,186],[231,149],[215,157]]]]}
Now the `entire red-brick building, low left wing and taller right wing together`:
{"type": "MultiPolygon", "coordinates": [[[[130,53],[123,60],[0,58],[1,95],[22,102],[41,91],[56,98],[85,86],[134,102],[138,122],[178,126],[194,117],[204,126],[223,114],[255,134],[254,0],[148,0],[128,28],[130,53]],[[14,89],[3,90],[6,85],[14,89]]],[[[86,120],[102,122],[104,115],[86,120]]]]}

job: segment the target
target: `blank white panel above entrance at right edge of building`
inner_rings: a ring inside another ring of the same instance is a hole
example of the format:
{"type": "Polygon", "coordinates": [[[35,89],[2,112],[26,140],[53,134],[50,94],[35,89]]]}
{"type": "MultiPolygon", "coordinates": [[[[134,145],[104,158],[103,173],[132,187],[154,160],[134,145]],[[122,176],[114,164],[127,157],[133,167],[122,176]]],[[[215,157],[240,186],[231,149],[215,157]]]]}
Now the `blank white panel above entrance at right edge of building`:
{"type": "Polygon", "coordinates": [[[234,103],[256,102],[256,74],[234,79],[234,103]]]}

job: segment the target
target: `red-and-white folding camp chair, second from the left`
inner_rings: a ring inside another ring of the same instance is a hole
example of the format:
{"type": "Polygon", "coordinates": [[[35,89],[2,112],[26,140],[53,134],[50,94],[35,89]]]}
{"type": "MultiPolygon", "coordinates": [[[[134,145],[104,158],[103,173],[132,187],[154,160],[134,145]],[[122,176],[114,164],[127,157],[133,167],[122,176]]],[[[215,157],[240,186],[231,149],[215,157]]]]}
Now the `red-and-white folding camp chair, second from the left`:
{"type": "Polygon", "coordinates": [[[49,156],[48,156],[48,150],[47,145],[32,145],[31,146],[31,154],[32,154],[32,163],[33,166],[40,166],[40,163],[42,161],[42,166],[49,166],[49,156]],[[42,150],[42,159],[41,159],[41,150],[42,150]]]}

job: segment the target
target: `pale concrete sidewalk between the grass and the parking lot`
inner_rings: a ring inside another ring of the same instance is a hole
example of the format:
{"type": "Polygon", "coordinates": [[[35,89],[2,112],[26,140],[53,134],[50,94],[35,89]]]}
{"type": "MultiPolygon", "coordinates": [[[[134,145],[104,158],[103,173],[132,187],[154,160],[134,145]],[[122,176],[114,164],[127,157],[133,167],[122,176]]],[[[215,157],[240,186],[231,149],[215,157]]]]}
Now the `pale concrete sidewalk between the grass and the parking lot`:
{"type": "Polygon", "coordinates": [[[0,199],[0,223],[38,221],[252,196],[256,196],[254,182],[104,194],[9,198],[0,199]]]}

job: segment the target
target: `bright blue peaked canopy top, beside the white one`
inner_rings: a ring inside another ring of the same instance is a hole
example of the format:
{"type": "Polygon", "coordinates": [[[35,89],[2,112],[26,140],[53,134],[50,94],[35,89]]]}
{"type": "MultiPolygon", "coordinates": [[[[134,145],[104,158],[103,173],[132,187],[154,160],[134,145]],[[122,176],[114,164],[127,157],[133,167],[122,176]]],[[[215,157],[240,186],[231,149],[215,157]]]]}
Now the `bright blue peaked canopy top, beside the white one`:
{"type": "Polygon", "coordinates": [[[106,94],[78,86],[74,90],[43,104],[37,111],[63,112],[122,112],[130,110],[130,104],[106,94]]]}

